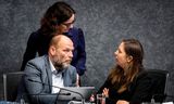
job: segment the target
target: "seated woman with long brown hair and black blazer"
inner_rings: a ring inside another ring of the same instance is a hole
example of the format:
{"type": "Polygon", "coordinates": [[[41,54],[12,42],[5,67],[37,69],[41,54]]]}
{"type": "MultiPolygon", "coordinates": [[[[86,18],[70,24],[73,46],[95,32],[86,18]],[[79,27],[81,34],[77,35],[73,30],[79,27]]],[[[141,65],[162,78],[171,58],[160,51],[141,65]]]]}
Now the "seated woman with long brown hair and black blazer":
{"type": "Polygon", "coordinates": [[[136,39],[124,39],[114,52],[116,66],[98,93],[107,104],[139,104],[150,101],[150,79],[142,66],[144,49],[136,39]]]}

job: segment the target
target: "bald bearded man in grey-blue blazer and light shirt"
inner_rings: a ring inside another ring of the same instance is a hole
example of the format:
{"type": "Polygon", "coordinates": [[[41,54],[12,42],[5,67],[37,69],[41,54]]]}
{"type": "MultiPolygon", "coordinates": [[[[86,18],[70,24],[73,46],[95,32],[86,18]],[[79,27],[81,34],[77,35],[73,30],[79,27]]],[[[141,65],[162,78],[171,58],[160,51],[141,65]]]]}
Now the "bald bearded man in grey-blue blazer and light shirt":
{"type": "Polygon", "coordinates": [[[48,55],[36,57],[26,64],[23,88],[24,93],[27,93],[27,102],[54,104],[60,91],[55,87],[77,86],[76,68],[71,65],[73,50],[73,42],[69,37],[57,35],[50,41],[48,55]]]}

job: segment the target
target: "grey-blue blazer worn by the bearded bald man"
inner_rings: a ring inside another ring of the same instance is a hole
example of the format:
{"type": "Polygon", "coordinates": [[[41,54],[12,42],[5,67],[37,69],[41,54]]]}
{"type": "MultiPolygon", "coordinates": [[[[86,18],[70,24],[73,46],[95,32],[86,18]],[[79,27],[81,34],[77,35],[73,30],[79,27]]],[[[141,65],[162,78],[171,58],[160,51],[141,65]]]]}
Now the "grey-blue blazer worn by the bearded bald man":
{"type": "MultiPolygon", "coordinates": [[[[25,67],[25,76],[22,93],[27,93],[26,101],[32,104],[54,104],[58,93],[51,94],[52,87],[52,74],[48,55],[36,57],[29,61],[25,67]],[[28,79],[39,82],[32,82],[28,79]],[[40,83],[41,82],[41,83],[40,83]],[[46,83],[46,84],[42,84],[46,83]]],[[[76,83],[76,69],[70,66],[62,72],[63,82],[65,87],[75,87],[76,83]]]]}

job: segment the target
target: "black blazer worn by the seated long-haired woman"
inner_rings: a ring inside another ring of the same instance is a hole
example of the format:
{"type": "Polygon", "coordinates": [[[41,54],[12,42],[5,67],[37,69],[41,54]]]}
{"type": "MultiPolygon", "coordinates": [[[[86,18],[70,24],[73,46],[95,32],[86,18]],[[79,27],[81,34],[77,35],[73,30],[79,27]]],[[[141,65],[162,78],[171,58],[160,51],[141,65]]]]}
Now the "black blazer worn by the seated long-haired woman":
{"type": "Polygon", "coordinates": [[[140,104],[141,102],[150,102],[150,77],[147,72],[141,72],[137,75],[128,89],[122,93],[117,93],[119,84],[112,84],[111,80],[107,79],[98,93],[102,93],[103,88],[109,89],[109,98],[105,100],[107,104],[116,104],[119,100],[125,100],[130,104],[140,104]]]}

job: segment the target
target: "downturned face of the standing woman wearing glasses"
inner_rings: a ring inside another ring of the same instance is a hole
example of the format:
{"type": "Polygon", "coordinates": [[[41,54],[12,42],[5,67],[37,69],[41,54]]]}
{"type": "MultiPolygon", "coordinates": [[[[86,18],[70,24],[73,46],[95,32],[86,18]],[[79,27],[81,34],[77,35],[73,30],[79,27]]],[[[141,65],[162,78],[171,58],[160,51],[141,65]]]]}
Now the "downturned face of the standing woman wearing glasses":
{"type": "Polygon", "coordinates": [[[66,22],[60,24],[57,27],[57,30],[59,31],[59,34],[63,34],[63,32],[67,32],[70,30],[70,28],[73,28],[75,22],[75,15],[73,14],[70,20],[67,20],[66,22]]]}

